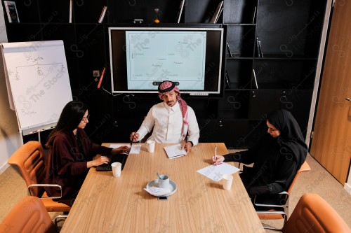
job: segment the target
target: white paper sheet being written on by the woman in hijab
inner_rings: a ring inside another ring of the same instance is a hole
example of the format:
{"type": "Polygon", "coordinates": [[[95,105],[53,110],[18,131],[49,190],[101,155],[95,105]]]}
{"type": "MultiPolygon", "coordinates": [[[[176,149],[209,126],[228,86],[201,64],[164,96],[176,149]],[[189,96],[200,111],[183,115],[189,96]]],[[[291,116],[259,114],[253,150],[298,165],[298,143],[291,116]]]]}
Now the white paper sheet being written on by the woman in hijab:
{"type": "Polygon", "coordinates": [[[222,180],[224,174],[234,174],[238,171],[240,171],[240,169],[237,167],[223,162],[222,164],[216,166],[210,165],[208,167],[204,167],[203,169],[199,169],[197,172],[210,178],[213,181],[220,181],[222,180]]]}

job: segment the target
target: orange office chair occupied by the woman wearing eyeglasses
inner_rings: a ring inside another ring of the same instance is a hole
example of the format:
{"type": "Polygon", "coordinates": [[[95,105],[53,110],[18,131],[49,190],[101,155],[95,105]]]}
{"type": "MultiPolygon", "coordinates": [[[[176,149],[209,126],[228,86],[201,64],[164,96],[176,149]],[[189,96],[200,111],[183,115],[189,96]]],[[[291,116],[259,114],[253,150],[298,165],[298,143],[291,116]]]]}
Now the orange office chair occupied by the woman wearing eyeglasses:
{"type": "MultiPolygon", "coordinates": [[[[60,185],[44,184],[46,174],[46,154],[41,143],[38,141],[28,141],[8,159],[8,164],[16,165],[25,179],[28,186],[29,195],[41,198],[46,211],[48,212],[67,212],[70,206],[60,202],[54,202],[53,199],[60,197],[48,197],[44,186],[60,188],[60,185]]],[[[62,192],[62,190],[61,190],[62,192]]],[[[58,216],[65,217],[65,216],[58,216]]]]}

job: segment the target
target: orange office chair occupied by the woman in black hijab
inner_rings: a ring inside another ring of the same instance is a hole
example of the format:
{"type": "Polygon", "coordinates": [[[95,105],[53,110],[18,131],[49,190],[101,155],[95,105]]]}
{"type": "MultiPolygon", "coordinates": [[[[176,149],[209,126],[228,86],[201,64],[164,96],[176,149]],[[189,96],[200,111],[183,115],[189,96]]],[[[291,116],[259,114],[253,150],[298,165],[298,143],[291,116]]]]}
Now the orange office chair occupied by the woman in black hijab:
{"type": "MultiPolygon", "coordinates": [[[[255,206],[260,206],[262,209],[267,209],[267,211],[256,211],[258,213],[258,218],[264,219],[264,220],[282,220],[284,219],[283,227],[286,223],[286,220],[288,220],[289,217],[289,195],[291,193],[291,190],[293,189],[293,185],[296,183],[298,176],[302,172],[307,172],[310,171],[311,168],[305,161],[300,169],[296,172],[295,177],[293,178],[293,181],[291,181],[291,185],[289,186],[288,191],[284,191],[279,193],[279,195],[284,196],[282,199],[282,204],[260,204],[257,203],[256,197],[253,201],[255,206]]],[[[270,229],[270,230],[279,230],[274,227],[271,227],[269,225],[263,224],[263,227],[265,229],[270,229]]],[[[282,230],[282,229],[280,229],[282,230]]]]}

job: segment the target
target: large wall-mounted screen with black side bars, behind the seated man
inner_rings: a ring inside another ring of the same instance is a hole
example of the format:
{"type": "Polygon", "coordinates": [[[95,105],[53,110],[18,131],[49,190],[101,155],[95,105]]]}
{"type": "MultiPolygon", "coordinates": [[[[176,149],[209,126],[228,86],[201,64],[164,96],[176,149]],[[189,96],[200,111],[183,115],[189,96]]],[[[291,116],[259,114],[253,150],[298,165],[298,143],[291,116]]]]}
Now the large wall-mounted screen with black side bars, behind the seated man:
{"type": "Polygon", "coordinates": [[[220,94],[223,28],[110,27],[112,93],[154,93],[163,80],[183,93],[220,94]]]}

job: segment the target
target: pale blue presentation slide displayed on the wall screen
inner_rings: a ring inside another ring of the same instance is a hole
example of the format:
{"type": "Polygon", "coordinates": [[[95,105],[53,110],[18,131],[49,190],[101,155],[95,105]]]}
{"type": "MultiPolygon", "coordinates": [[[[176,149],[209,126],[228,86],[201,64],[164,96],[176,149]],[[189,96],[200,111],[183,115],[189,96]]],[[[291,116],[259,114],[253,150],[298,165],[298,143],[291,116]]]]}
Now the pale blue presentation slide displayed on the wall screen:
{"type": "Polygon", "coordinates": [[[180,90],[204,90],[206,31],[126,31],[129,90],[157,90],[172,80],[180,90]]]}

